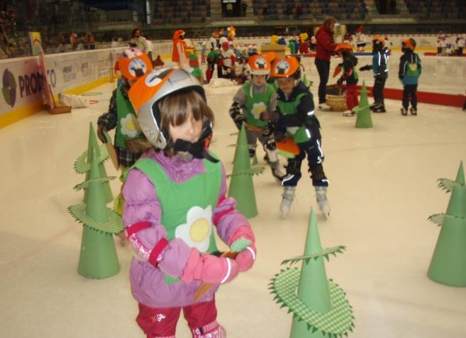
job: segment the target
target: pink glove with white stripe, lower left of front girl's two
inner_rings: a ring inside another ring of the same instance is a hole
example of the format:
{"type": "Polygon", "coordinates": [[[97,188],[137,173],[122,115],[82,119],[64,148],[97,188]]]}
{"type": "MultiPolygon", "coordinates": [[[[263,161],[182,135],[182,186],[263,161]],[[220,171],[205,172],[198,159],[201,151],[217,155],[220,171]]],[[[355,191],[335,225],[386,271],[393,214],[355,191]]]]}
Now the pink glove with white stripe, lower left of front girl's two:
{"type": "Polygon", "coordinates": [[[206,283],[226,283],[238,276],[238,262],[235,259],[216,257],[210,254],[199,254],[193,249],[184,267],[181,279],[189,283],[192,280],[202,280],[206,283]]]}

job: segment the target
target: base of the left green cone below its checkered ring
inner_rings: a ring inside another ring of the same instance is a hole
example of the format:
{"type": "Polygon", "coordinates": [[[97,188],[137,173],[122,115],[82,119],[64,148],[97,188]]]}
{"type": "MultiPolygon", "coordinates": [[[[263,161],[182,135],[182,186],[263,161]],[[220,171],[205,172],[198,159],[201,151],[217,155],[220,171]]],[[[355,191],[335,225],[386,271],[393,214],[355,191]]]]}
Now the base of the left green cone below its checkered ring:
{"type": "Polygon", "coordinates": [[[109,278],[120,272],[113,235],[82,228],[81,252],[78,273],[86,278],[109,278]]]}

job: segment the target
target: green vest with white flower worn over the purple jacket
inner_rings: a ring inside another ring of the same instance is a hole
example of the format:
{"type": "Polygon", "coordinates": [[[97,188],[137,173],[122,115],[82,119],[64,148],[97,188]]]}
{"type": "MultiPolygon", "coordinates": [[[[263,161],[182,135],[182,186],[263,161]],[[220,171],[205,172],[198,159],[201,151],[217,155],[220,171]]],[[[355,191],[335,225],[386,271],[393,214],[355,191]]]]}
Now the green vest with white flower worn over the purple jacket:
{"type": "MultiPolygon", "coordinates": [[[[216,157],[216,156],[215,156],[216,157]]],[[[221,163],[204,159],[204,173],[185,182],[172,182],[162,166],[150,158],[140,158],[138,168],[155,187],[160,202],[160,224],[167,230],[167,240],[179,238],[200,252],[217,251],[213,235],[213,210],[221,189],[221,163]]],[[[176,283],[179,278],[165,275],[165,283],[176,283]]]]}

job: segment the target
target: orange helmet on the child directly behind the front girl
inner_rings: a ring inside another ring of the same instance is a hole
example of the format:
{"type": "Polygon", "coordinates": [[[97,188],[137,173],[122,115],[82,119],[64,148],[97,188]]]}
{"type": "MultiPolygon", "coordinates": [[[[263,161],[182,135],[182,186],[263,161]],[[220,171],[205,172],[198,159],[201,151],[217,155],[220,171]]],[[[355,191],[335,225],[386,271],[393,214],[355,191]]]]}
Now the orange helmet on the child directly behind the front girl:
{"type": "Polygon", "coordinates": [[[127,48],[121,53],[118,57],[118,66],[121,75],[128,80],[136,80],[152,71],[152,62],[148,55],[135,47],[127,48]]]}

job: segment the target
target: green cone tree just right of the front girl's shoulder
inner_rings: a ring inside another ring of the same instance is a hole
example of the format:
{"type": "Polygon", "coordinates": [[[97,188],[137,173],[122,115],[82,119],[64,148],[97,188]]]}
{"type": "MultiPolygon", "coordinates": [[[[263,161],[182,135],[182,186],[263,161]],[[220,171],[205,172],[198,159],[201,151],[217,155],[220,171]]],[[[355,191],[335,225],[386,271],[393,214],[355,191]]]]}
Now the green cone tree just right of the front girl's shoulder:
{"type": "Polygon", "coordinates": [[[231,178],[230,186],[228,187],[228,197],[233,197],[236,200],[236,208],[245,217],[251,218],[257,215],[253,175],[258,175],[263,171],[264,167],[251,169],[248,141],[243,124],[238,134],[238,141],[236,142],[233,173],[228,175],[231,178]]]}

